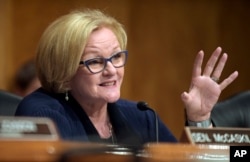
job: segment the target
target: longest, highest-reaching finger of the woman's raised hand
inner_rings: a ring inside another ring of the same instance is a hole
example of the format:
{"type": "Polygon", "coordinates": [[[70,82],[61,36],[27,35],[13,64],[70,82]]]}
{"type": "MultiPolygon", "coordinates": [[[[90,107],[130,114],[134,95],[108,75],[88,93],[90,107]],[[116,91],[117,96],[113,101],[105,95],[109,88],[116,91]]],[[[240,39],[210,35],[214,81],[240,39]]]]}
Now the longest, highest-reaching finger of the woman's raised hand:
{"type": "Polygon", "coordinates": [[[221,54],[221,51],[222,51],[221,47],[217,47],[215,49],[215,51],[213,52],[213,54],[211,55],[211,57],[209,58],[206,66],[205,66],[203,75],[205,75],[205,76],[211,75],[211,73],[214,70],[215,64],[216,64],[216,62],[221,54]]]}

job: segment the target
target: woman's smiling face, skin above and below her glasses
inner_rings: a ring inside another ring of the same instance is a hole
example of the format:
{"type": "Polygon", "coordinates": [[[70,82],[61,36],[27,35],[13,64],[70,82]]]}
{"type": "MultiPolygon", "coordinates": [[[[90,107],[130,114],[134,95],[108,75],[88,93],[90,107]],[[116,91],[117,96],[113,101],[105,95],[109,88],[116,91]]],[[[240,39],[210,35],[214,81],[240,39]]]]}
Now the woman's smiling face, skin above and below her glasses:
{"type": "MultiPolygon", "coordinates": [[[[121,48],[116,36],[103,27],[90,35],[81,60],[109,58],[119,51],[121,48]]],[[[79,65],[70,81],[71,93],[78,102],[115,102],[120,98],[123,75],[124,67],[115,68],[110,61],[103,71],[95,74],[85,65],[79,65]]]]}

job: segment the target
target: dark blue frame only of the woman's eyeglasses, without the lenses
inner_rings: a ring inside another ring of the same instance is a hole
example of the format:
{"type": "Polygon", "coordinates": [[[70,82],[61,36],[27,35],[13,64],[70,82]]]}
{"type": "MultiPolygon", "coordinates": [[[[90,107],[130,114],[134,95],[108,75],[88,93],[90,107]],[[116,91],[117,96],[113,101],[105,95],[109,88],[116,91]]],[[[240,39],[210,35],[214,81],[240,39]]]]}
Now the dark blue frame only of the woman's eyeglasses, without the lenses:
{"type": "Polygon", "coordinates": [[[82,61],[80,61],[79,65],[85,65],[85,66],[88,68],[88,70],[89,70],[91,73],[93,73],[93,74],[102,72],[102,71],[106,68],[107,62],[108,62],[108,61],[111,62],[111,64],[112,64],[115,68],[120,68],[120,67],[125,66],[125,64],[126,64],[126,62],[127,62],[128,51],[127,51],[127,50],[119,51],[119,52],[113,54],[113,55],[112,55],[111,57],[109,57],[109,58],[104,58],[104,57],[97,57],[97,58],[92,58],[92,59],[85,60],[85,61],[82,60],[82,61]],[[115,65],[113,64],[113,62],[112,62],[112,59],[113,59],[115,56],[117,56],[118,54],[120,54],[120,53],[124,53],[124,54],[125,54],[124,64],[121,65],[121,66],[115,66],[115,65]],[[90,69],[90,67],[89,67],[89,62],[92,61],[92,60],[95,60],[95,59],[97,59],[97,58],[101,58],[101,59],[104,60],[104,66],[103,66],[102,70],[97,71],[97,72],[93,72],[93,71],[90,69]]]}

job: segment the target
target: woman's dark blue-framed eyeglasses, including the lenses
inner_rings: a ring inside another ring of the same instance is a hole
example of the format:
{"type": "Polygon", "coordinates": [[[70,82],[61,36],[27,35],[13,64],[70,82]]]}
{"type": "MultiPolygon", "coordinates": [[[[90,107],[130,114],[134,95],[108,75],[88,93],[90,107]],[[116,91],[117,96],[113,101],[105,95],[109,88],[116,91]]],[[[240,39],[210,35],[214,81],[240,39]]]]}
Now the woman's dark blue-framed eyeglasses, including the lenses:
{"type": "Polygon", "coordinates": [[[80,61],[80,65],[85,65],[93,74],[103,71],[107,62],[110,61],[115,68],[123,67],[127,61],[128,51],[120,51],[112,55],[110,58],[97,57],[85,61],[80,61]]]}

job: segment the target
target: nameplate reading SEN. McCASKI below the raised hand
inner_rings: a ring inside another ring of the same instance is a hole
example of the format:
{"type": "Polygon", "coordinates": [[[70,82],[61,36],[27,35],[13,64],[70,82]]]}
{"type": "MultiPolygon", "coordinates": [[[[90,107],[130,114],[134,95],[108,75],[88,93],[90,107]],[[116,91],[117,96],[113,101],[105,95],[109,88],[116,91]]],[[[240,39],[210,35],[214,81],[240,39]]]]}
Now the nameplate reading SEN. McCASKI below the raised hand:
{"type": "Polygon", "coordinates": [[[250,145],[250,129],[185,127],[180,141],[191,144],[250,145]]]}

